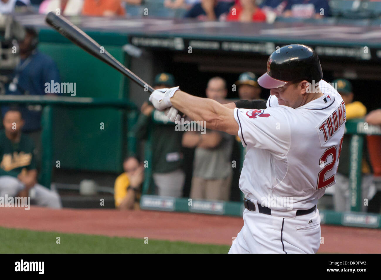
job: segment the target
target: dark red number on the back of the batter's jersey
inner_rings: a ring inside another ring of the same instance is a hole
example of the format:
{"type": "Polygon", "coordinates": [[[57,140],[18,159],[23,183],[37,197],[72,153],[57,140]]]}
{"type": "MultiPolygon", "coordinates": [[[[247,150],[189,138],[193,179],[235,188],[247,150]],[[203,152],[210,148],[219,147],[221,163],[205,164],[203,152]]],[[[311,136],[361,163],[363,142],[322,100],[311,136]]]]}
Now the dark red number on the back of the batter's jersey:
{"type": "Polygon", "coordinates": [[[325,179],[325,174],[328,171],[332,170],[333,166],[335,166],[336,160],[339,160],[340,153],[341,153],[341,147],[343,146],[343,139],[344,139],[344,136],[340,140],[339,152],[337,154],[337,157],[336,157],[337,149],[335,146],[332,146],[332,147],[328,148],[327,150],[325,150],[324,154],[320,157],[319,164],[321,165],[323,163],[323,169],[322,169],[322,171],[319,172],[319,175],[317,176],[317,187],[316,187],[317,190],[328,187],[330,184],[335,182],[335,174],[333,174],[328,179],[325,179]],[[325,165],[325,163],[327,162],[327,158],[330,155],[332,155],[333,160],[331,163],[328,163],[327,165],[325,165]]]}

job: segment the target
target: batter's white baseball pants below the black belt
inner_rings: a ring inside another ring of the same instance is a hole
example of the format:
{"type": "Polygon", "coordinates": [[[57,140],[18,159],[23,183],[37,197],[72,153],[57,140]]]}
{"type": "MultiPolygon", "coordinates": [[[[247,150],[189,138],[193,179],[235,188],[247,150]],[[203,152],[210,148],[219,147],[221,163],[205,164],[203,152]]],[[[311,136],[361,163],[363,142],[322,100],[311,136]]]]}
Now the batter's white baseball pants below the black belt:
{"type": "Polygon", "coordinates": [[[283,218],[245,209],[243,227],[231,253],[316,253],[320,247],[320,216],[315,211],[283,218]]]}

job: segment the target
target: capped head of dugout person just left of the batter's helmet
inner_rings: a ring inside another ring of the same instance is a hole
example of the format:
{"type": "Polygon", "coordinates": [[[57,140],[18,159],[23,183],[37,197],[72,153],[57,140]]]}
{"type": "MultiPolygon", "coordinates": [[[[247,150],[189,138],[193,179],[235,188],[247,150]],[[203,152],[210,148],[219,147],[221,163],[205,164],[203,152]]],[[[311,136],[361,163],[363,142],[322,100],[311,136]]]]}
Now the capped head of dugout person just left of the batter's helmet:
{"type": "Polygon", "coordinates": [[[261,98],[262,89],[257,83],[257,77],[252,72],[243,72],[239,75],[235,85],[238,87],[238,96],[241,100],[255,100],[261,98]]]}

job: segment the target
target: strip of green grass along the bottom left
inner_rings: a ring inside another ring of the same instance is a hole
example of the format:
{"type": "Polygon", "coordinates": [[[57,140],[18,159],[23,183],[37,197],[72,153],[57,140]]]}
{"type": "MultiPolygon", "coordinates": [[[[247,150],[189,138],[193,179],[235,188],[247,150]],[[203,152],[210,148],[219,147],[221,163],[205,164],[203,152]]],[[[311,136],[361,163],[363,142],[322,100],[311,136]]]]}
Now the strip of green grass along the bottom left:
{"type": "Polygon", "coordinates": [[[0,227],[0,253],[227,253],[230,246],[0,227]],[[56,238],[61,244],[56,244],[56,238]]]}

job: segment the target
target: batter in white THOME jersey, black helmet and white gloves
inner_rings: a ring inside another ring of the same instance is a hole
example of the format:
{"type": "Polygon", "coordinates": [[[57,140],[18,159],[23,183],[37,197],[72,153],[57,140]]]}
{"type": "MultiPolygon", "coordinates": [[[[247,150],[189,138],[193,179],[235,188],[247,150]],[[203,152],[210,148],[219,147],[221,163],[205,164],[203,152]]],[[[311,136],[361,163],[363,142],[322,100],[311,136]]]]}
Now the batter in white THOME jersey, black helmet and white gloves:
{"type": "Polygon", "coordinates": [[[244,225],[229,253],[319,249],[317,201],[335,184],[346,121],[343,99],[322,78],[314,50],[295,44],[274,51],[258,78],[270,89],[266,109],[251,101],[221,105],[178,87],[151,94],[150,101],[171,119],[180,118],[179,110],[207,121],[210,129],[238,134],[247,147],[239,181],[244,225]]]}

